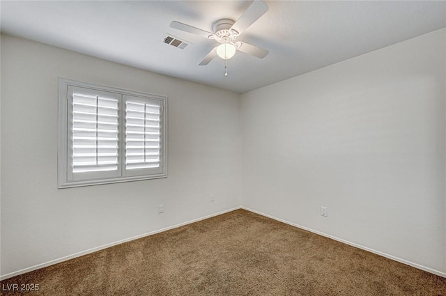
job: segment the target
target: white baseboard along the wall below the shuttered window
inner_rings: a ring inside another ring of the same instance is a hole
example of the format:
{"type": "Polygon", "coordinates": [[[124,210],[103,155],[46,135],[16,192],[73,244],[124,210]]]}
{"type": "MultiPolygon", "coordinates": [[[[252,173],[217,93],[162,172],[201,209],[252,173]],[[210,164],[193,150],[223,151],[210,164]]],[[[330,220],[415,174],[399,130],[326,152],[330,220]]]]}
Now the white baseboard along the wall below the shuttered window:
{"type": "Polygon", "coordinates": [[[92,249],[81,251],[81,252],[78,252],[78,253],[75,253],[75,254],[72,254],[72,255],[64,256],[64,257],[59,258],[59,259],[50,260],[50,261],[45,262],[45,263],[40,263],[38,265],[34,265],[34,266],[31,266],[31,267],[24,268],[22,270],[17,270],[16,272],[10,272],[9,274],[4,274],[4,275],[0,276],[0,281],[3,281],[3,279],[9,279],[9,278],[11,278],[13,276],[24,274],[26,272],[32,272],[33,270],[39,270],[40,268],[48,267],[49,265],[54,265],[54,264],[61,263],[61,262],[66,261],[66,260],[70,260],[70,259],[73,259],[73,258],[84,256],[86,254],[91,254],[91,253],[94,253],[95,251],[100,251],[102,249],[107,249],[109,247],[116,246],[116,244],[122,244],[123,242],[130,242],[132,240],[137,240],[137,239],[139,239],[141,237],[146,237],[146,236],[149,236],[149,235],[154,235],[156,233],[162,233],[164,231],[169,231],[170,229],[178,228],[180,226],[185,226],[187,224],[192,224],[194,222],[201,221],[201,220],[204,220],[204,219],[208,219],[210,217],[215,217],[215,216],[218,216],[218,215],[222,215],[222,214],[224,214],[226,212],[232,212],[233,210],[238,210],[240,208],[241,207],[236,207],[236,208],[232,208],[232,209],[229,209],[229,210],[224,210],[222,212],[217,212],[215,214],[207,215],[207,216],[204,216],[204,217],[201,217],[201,218],[197,218],[197,219],[192,219],[190,221],[186,221],[186,222],[183,222],[183,223],[180,223],[180,224],[176,224],[176,225],[173,225],[173,226],[169,226],[169,227],[166,227],[166,228],[161,228],[161,229],[158,229],[157,231],[151,231],[149,233],[144,233],[144,234],[141,234],[141,235],[128,237],[128,238],[125,238],[124,240],[118,240],[117,242],[111,242],[109,244],[103,244],[100,247],[95,247],[95,248],[92,248],[92,249]]]}

